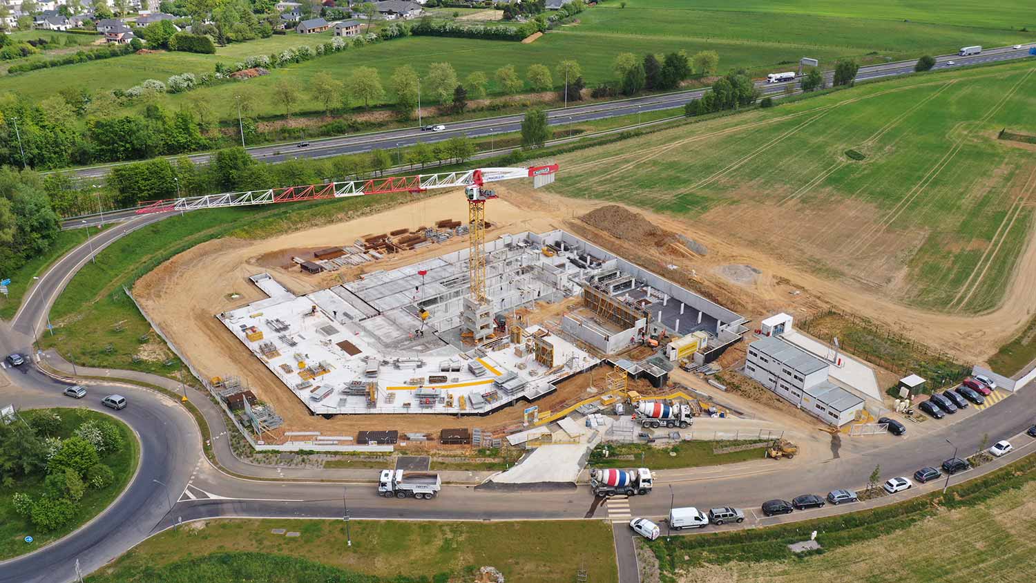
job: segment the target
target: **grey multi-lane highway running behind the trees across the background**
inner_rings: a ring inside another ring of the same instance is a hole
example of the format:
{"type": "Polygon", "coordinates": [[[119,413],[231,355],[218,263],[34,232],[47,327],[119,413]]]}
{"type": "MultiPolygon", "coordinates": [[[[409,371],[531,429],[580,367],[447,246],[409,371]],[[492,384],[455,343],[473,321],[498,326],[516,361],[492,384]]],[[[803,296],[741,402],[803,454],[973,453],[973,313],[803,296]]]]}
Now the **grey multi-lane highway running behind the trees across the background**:
{"type": "MultiPolygon", "coordinates": [[[[937,69],[956,67],[962,65],[982,64],[997,61],[1020,59],[1029,57],[1028,49],[1036,43],[1023,45],[1021,49],[1003,47],[986,49],[979,55],[959,57],[956,55],[943,55],[937,57],[937,69]],[[954,65],[949,65],[953,61],[954,65]]],[[[916,61],[896,61],[875,65],[860,67],[857,74],[858,81],[881,79],[914,72],[916,61]]],[[[825,74],[830,83],[833,78],[832,71],[825,74]]],[[[798,87],[798,81],[787,83],[768,84],[758,82],[764,96],[781,96],[785,93],[786,86],[798,87]]],[[[643,112],[658,110],[668,110],[683,107],[686,103],[699,98],[709,89],[692,89],[686,91],[674,91],[671,93],[661,93],[633,97],[629,99],[617,99],[611,101],[601,101],[596,104],[572,105],[568,108],[557,108],[548,110],[547,117],[551,125],[562,127],[570,122],[578,123],[597,119],[607,119],[610,117],[636,115],[643,112]]],[[[261,162],[282,162],[291,158],[322,158],[340,154],[366,152],[373,149],[393,150],[397,147],[411,146],[418,142],[433,143],[448,140],[457,136],[469,138],[480,138],[510,134],[521,130],[522,114],[505,115],[489,118],[472,119],[467,121],[451,122],[443,132],[422,132],[420,127],[408,127],[402,129],[390,129],[385,132],[373,132],[368,134],[356,134],[353,136],[340,136],[335,138],[324,138],[310,140],[308,147],[298,147],[297,143],[283,143],[265,146],[254,146],[248,148],[249,153],[257,161],[261,162]]],[[[198,153],[188,156],[195,164],[207,164],[211,153],[198,153]]],[[[172,159],[172,157],[170,158],[172,159]]],[[[112,166],[104,165],[75,170],[76,175],[87,177],[100,177],[108,174],[112,166]]]]}

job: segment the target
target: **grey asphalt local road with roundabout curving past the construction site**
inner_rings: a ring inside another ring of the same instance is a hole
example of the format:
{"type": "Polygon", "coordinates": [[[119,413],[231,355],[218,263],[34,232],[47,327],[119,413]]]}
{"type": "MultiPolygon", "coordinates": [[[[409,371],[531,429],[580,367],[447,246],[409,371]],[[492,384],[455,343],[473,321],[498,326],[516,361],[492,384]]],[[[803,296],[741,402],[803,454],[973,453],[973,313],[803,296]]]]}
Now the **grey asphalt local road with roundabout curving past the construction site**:
{"type": "MultiPolygon", "coordinates": [[[[132,229],[161,220],[164,214],[137,217],[109,229],[95,241],[93,252],[132,229]]],[[[46,322],[47,313],[60,290],[91,256],[87,245],[70,252],[50,269],[27,295],[13,326],[0,324],[0,350],[3,354],[19,350],[29,353],[32,328],[46,322]]],[[[82,372],[82,371],[81,371],[82,372]]],[[[107,371],[92,374],[106,374],[107,371]]],[[[118,371],[112,372],[115,375],[118,371]]],[[[122,373],[138,375],[137,373],[122,373]]],[[[127,397],[131,405],[113,412],[126,421],[142,440],[140,471],[125,494],[108,511],[73,535],[24,557],[0,563],[0,583],[69,581],[76,559],[85,573],[99,567],[139,543],[149,533],[171,527],[180,521],[215,517],[341,518],[345,494],[350,516],[355,520],[528,520],[528,519],[612,519],[616,523],[615,542],[620,553],[622,583],[636,581],[636,565],[631,564],[632,545],[629,530],[623,525],[626,515],[663,517],[671,493],[677,505],[744,507],[745,525],[767,525],[803,517],[848,512],[875,503],[902,499],[908,495],[941,488],[941,484],[916,487],[908,493],[883,498],[877,502],[828,506],[818,511],[794,513],[786,517],[762,518],[759,504],[770,498],[790,499],[803,493],[825,494],[835,488],[862,489],[877,464],[883,479],[911,475],[921,466],[938,466],[949,458],[953,446],[962,455],[975,451],[988,434],[990,442],[1008,438],[1018,451],[997,460],[980,470],[971,470],[951,478],[950,484],[967,479],[980,471],[999,467],[1033,449],[1034,440],[1019,435],[1033,422],[1036,391],[1026,387],[988,409],[948,422],[911,426],[905,438],[890,435],[844,439],[840,446],[821,463],[752,462],[718,468],[659,471],[655,492],[628,501],[603,501],[595,498],[585,486],[538,492],[502,492],[473,486],[447,486],[440,496],[430,501],[397,500],[376,496],[370,484],[353,482],[347,486],[305,482],[321,478],[320,470],[296,472],[300,482],[264,482],[261,478],[234,477],[209,463],[201,454],[200,434],[194,420],[174,401],[144,388],[105,381],[87,384],[89,395],[71,402],[61,396],[65,384],[31,367],[0,373],[4,403],[20,408],[40,406],[87,406],[99,409],[99,399],[109,392],[127,397]],[[7,386],[3,386],[7,385],[7,386]],[[946,439],[952,440],[952,445],[946,439]],[[166,489],[168,485],[169,512],[166,489]],[[617,505],[628,504],[616,511],[617,505]],[[753,511],[754,508],[754,511],[753,511]]],[[[220,466],[236,473],[250,474],[248,464],[233,458],[227,431],[219,409],[205,396],[188,391],[192,402],[202,409],[214,438],[220,466]]],[[[951,417],[952,418],[952,417],[951,417]]],[[[365,476],[366,477],[366,476],[365,476]]],[[[724,526],[739,528],[737,525],[724,526]]],[[[710,528],[715,530],[715,528],[710,528]]],[[[635,559],[634,559],[635,560],[635,559]]]]}

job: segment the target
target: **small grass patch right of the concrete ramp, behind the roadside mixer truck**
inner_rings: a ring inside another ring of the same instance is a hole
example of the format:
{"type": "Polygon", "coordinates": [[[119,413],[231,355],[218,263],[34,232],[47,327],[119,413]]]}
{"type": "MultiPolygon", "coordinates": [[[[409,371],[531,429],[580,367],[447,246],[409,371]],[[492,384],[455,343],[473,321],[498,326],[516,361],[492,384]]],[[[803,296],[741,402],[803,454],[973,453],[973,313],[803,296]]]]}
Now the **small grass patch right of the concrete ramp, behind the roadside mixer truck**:
{"type": "Polygon", "coordinates": [[[667,470],[697,466],[718,466],[751,460],[761,460],[766,456],[766,444],[742,451],[714,454],[716,447],[746,444],[744,441],[686,441],[672,447],[653,447],[639,443],[609,443],[598,445],[591,453],[589,465],[600,468],[625,468],[638,464],[650,468],[667,470]],[[608,457],[604,457],[604,448],[608,457]],[[672,456],[671,454],[675,454],[672,456]],[[632,460],[628,456],[633,456],[632,460]]]}

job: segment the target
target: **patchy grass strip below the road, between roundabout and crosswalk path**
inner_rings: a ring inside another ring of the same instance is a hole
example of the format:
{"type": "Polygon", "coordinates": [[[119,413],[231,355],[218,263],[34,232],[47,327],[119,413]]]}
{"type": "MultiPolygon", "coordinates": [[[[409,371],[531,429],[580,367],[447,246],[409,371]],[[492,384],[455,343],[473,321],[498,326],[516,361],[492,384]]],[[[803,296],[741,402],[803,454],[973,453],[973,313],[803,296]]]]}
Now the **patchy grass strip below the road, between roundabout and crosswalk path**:
{"type": "Polygon", "coordinates": [[[145,541],[87,581],[473,581],[472,570],[477,574],[479,567],[491,565],[507,581],[568,583],[575,580],[580,563],[594,583],[618,580],[611,528],[602,521],[354,520],[350,529],[352,547],[346,546],[342,521],[213,521],[201,528],[184,525],[145,541]],[[274,528],[300,535],[287,538],[270,533],[274,528]],[[277,577],[271,578],[275,573],[277,577]],[[253,578],[257,574],[260,578],[253,578]]]}

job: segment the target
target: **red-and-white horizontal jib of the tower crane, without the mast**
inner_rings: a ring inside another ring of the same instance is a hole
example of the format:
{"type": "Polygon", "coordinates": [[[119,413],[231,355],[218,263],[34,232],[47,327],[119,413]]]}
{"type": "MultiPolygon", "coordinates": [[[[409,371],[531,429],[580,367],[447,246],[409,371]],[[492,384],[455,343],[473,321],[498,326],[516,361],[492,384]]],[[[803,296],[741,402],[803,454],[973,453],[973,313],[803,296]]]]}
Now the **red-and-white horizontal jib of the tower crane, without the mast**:
{"type": "Polygon", "coordinates": [[[534,166],[529,168],[481,168],[438,174],[418,174],[414,176],[390,176],[308,186],[287,186],[265,191],[243,191],[222,193],[201,197],[182,197],[142,203],[137,214],[169,212],[174,210],[195,210],[199,208],[222,208],[227,206],[248,206],[282,202],[311,201],[388,193],[422,193],[432,188],[457,188],[470,185],[481,186],[484,182],[497,182],[517,178],[533,178],[539,188],[554,181],[557,165],[534,166]]]}

